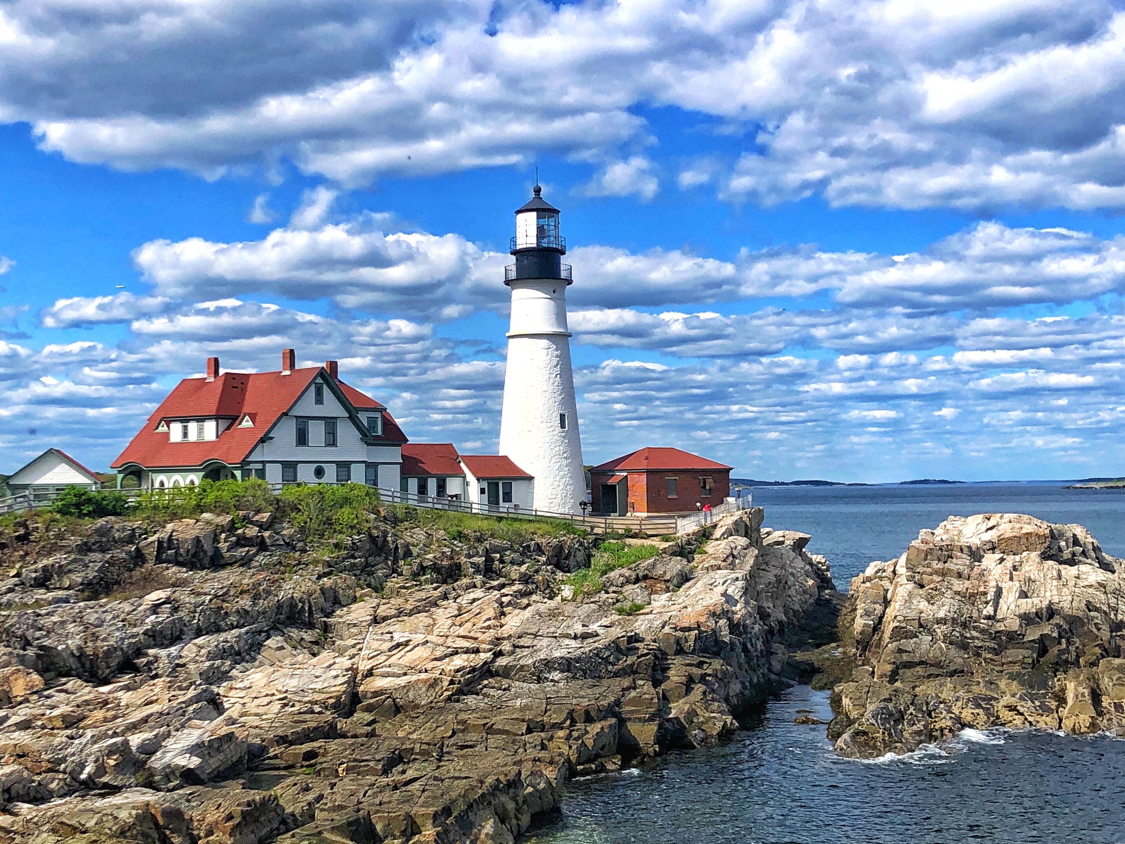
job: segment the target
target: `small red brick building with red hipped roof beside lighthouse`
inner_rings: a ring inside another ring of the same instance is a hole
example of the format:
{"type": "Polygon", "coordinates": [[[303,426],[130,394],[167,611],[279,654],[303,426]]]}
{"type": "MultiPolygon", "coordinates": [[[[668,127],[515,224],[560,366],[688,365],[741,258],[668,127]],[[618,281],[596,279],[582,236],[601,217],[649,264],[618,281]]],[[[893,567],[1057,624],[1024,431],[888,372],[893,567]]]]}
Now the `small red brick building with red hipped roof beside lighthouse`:
{"type": "Polygon", "coordinates": [[[694,513],[730,495],[730,466],[678,448],[642,448],[590,470],[591,511],[694,513]]]}

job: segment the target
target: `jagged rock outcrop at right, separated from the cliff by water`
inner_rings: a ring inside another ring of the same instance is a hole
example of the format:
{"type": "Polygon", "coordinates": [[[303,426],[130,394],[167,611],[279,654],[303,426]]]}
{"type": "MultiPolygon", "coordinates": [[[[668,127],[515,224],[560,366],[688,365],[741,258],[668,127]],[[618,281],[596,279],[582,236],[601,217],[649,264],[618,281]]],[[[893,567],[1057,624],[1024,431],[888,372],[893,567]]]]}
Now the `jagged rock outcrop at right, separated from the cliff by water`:
{"type": "Polygon", "coordinates": [[[1080,524],[953,517],[853,580],[858,667],[834,693],[848,756],[966,727],[1125,735],[1125,564],[1080,524]]]}

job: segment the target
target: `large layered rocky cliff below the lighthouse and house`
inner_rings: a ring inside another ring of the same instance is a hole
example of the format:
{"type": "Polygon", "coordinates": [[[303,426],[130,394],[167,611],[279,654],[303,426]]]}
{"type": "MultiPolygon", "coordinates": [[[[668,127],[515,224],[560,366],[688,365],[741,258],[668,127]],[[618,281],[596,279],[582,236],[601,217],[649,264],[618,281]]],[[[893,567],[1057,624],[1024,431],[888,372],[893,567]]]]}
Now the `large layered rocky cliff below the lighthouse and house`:
{"type": "Polygon", "coordinates": [[[568,778],[719,740],[777,682],[835,593],[760,523],[577,595],[584,539],[392,513],[333,553],[272,513],[17,526],[0,842],[511,842],[568,778]]]}

